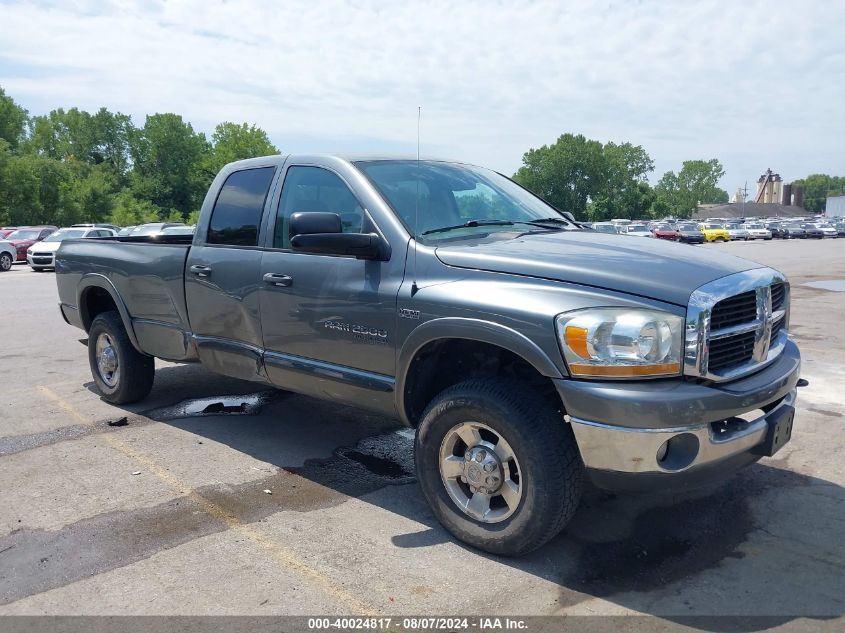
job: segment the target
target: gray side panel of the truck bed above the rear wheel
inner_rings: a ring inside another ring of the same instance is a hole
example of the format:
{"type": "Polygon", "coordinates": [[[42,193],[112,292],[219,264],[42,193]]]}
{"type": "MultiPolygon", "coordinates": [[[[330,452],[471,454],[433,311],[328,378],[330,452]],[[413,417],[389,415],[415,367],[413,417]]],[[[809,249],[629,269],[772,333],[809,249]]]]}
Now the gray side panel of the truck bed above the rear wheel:
{"type": "Polygon", "coordinates": [[[56,281],[68,320],[84,318],[80,303],[93,287],[115,290],[131,315],[130,336],[145,352],[172,360],[189,356],[185,261],[190,235],[67,240],[56,253],[56,281]]]}

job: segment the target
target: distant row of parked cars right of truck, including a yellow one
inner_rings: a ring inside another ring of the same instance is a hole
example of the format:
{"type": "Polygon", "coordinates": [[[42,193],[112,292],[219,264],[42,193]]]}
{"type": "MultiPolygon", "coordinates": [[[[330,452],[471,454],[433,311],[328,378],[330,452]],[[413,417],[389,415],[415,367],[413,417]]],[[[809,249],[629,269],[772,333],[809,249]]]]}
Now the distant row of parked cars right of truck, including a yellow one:
{"type": "Polygon", "coordinates": [[[708,219],[706,222],[663,220],[659,222],[595,222],[585,227],[599,233],[622,233],[639,237],[703,244],[732,240],[805,239],[845,237],[845,219],[833,221],[816,218],[756,219],[745,221],[708,219]]]}

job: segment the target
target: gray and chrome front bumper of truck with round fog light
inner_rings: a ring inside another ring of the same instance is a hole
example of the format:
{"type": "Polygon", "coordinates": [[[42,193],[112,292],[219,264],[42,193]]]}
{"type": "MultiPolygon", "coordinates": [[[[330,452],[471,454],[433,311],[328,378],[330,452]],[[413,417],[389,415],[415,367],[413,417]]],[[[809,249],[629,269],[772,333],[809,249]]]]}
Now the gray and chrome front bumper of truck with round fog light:
{"type": "Polygon", "coordinates": [[[727,384],[556,380],[584,465],[611,490],[686,488],[718,481],[760,459],[769,420],[793,407],[798,348],[727,384]],[[760,415],[738,416],[762,409],[760,415]],[[667,440],[683,459],[658,461],[667,440]],[[688,458],[688,459],[687,459],[688,458]]]}

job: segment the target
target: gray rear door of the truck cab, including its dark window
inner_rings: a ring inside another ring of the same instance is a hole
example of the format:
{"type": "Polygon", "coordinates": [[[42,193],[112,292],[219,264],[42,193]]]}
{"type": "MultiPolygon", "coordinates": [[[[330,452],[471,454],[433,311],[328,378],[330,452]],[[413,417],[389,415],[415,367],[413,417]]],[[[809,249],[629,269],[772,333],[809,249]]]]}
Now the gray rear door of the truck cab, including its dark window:
{"type": "Polygon", "coordinates": [[[274,166],[255,167],[226,177],[185,267],[185,300],[200,360],[247,380],[264,376],[259,232],[275,172],[274,166]]]}

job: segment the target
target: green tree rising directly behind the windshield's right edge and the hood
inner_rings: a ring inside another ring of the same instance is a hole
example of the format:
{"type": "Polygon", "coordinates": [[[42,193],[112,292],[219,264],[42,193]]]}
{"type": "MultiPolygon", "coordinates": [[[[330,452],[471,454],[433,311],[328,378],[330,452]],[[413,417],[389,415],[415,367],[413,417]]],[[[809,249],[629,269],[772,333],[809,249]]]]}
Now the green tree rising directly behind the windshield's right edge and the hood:
{"type": "Polygon", "coordinates": [[[599,141],[563,134],[552,145],[528,150],[513,178],[552,206],[583,219],[587,202],[603,190],[607,171],[603,150],[599,141]]]}

